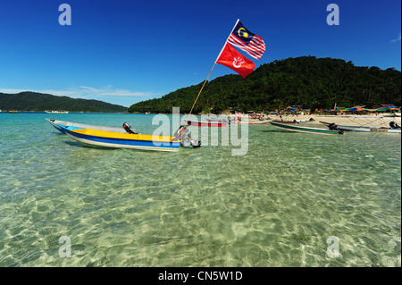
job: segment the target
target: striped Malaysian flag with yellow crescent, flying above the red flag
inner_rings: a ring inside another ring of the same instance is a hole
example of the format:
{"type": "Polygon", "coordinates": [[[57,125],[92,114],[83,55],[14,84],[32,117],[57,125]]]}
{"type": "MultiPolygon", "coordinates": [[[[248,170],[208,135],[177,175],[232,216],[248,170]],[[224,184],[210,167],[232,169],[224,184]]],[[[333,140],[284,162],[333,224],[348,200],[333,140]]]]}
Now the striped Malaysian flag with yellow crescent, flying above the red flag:
{"type": "Polygon", "coordinates": [[[239,47],[256,59],[260,59],[265,52],[263,38],[258,37],[246,29],[240,21],[238,21],[236,27],[231,32],[228,42],[233,46],[239,47]]]}

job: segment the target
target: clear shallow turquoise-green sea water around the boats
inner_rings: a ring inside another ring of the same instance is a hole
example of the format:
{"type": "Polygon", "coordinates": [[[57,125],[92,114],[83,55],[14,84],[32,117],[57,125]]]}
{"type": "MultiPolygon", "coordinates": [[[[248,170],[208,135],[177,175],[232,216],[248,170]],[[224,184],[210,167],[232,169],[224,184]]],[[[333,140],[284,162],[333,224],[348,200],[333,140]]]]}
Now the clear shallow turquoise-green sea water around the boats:
{"type": "Polygon", "coordinates": [[[0,113],[0,266],[401,266],[400,135],[257,125],[246,155],[207,141],[160,153],[82,147],[49,116],[158,128],[0,113]]]}

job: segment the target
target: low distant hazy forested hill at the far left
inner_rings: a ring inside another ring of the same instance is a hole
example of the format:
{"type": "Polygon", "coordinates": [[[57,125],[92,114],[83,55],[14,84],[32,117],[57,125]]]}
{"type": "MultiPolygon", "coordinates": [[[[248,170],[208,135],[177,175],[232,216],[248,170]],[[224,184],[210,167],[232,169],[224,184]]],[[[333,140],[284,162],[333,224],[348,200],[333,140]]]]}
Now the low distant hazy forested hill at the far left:
{"type": "Polygon", "coordinates": [[[98,100],[73,99],[68,96],[54,96],[36,92],[21,92],[18,94],[0,93],[0,109],[17,111],[70,111],[123,113],[127,107],[113,105],[98,100]]]}

